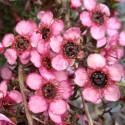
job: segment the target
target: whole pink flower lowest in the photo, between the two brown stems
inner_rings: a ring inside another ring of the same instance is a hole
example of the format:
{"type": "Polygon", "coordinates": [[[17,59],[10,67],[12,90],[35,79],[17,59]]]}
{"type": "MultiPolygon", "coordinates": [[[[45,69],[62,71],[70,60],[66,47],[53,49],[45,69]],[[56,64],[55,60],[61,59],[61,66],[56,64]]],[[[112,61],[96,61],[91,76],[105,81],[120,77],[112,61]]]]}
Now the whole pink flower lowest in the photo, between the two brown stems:
{"type": "MultiPolygon", "coordinates": [[[[26,84],[35,90],[35,95],[31,96],[28,102],[30,111],[40,113],[48,110],[50,118],[66,112],[67,104],[63,99],[68,99],[72,93],[69,82],[43,79],[38,73],[31,73],[26,78],[26,84]]],[[[52,120],[54,121],[54,118],[52,120]]],[[[56,118],[54,122],[60,123],[56,118]]]]}

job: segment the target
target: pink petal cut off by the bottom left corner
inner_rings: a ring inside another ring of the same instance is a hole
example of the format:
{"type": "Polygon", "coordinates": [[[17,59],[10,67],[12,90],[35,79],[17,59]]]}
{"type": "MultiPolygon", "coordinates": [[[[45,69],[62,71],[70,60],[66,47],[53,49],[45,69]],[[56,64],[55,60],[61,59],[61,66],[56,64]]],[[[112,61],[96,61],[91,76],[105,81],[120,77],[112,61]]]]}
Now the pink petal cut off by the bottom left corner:
{"type": "Polygon", "coordinates": [[[15,125],[9,118],[0,113],[0,125],[15,125]]]}

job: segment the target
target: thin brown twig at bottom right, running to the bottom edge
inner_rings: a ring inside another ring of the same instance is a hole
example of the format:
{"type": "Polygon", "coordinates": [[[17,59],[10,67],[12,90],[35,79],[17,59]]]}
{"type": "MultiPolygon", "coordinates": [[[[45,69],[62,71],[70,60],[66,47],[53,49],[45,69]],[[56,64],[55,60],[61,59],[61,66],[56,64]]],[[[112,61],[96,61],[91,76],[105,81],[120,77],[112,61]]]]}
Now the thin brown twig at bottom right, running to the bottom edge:
{"type": "Polygon", "coordinates": [[[87,104],[85,103],[84,98],[82,97],[82,89],[80,88],[79,90],[80,90],[80,94],[81,94],[81,98],[82,98],[83,107],[84,107],[84,109],[85,109],[85,113],[86,113],[86,116],[87,116],[87,119],[88,119],[88,125],[94,125],[94,124],[93,124],[93,120],[92,120],[92,118],[91,118],[91,116],[90,116],[90,113],[89,113],[88,106],[87,106],[87,104]]]}

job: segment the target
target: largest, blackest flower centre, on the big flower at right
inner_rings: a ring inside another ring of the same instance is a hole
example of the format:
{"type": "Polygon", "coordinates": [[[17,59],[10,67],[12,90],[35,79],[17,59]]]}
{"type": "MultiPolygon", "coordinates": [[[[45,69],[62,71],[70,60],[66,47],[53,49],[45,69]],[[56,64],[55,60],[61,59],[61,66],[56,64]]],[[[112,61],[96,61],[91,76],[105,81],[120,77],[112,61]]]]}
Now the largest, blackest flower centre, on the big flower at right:
{"type": "Polygon", "coordinates": [[[96,87],[96,88],[103,88],[107,84],[107,75],[101,71],[95,71],[91,76],[90,76],[90,81],[91,83],[96,87]]]}

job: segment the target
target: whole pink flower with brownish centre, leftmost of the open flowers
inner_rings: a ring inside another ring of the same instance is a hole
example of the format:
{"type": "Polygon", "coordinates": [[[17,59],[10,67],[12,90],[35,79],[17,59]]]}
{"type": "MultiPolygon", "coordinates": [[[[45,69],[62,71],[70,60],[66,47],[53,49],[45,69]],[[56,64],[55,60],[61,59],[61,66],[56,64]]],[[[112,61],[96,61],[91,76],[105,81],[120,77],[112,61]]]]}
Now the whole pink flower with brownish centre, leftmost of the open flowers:
{"type": "Polygon", "coordinates": [[[14,36],[10,33],[3,37],[3,46],[11,46],[11,48],[7,48],[4,53],[9,64],[15,64],[17,56],[20,57],[21,63],[28,63],[30,60],[30,51],[32,50],[32,41],[30,39],[36,27],[34,22],[22,20],[15,27],[19,35],[14,36]]]}

